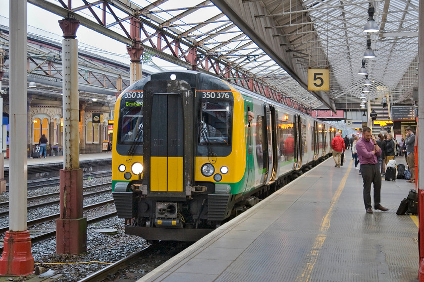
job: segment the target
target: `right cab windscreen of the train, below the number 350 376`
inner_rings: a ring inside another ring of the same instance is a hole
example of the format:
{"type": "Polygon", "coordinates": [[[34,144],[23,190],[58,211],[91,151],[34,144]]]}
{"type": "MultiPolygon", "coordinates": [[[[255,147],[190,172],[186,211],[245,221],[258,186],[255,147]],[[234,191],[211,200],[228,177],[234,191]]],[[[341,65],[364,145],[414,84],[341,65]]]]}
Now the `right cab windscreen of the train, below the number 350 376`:
{"type": "Polygon", "coordinates": [[[199,145],[231,146],[232,107],[229,101],[202,100],[199,145]]]}

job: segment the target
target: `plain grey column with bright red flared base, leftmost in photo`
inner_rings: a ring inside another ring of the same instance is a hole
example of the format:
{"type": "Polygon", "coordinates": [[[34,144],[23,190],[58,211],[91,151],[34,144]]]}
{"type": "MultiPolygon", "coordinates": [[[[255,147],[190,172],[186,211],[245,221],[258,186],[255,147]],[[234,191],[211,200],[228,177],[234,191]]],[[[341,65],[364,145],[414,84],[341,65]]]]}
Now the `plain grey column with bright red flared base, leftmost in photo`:
{"type": "Polygon", "coordinates": [[[1,275],[34,272],[27,230],[27,1],[10,1],[10,194],[1,275]],[[22,101],[25,101],[22,103],[22,101]]]}

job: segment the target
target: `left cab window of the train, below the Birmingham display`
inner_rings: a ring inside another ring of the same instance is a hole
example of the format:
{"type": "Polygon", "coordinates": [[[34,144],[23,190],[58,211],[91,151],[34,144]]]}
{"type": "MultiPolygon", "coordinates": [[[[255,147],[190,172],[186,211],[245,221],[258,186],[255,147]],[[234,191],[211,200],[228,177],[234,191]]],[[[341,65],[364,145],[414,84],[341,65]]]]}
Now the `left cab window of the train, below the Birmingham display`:
{"type": "MultiPolygon", "coordinates": [[[[143,142],[143,101],[122,99],[118,121],[118,145],[140,145],[143,142]]],[[[142,152],[142,149],[137,151],[142,152]]]]}

